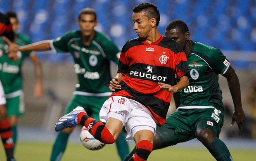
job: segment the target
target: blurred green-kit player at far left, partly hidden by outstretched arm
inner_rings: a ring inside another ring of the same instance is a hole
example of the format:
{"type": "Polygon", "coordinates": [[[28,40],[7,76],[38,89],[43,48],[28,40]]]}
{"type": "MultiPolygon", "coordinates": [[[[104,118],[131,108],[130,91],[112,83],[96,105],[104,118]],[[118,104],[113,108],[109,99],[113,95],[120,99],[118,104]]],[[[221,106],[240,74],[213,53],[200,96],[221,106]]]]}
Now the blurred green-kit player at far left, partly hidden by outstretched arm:
{"type": "MultiPolygon", "coordinates": [[[[17,45],[30,44],[31,40],[28,36],[17,33],[20,27],[17,15],[14,12],[7,12],[7,17],[9,17],[10,23],[12,24],[14,31],[14,41],[17,45]]],[[[10,118],[11,129],[13,133],[14,147],[17,141],[17,120],[18,116],[25,114],[24,106],[24,92],[22,90],[22,74],[21,66],[25,59],[28,57],[32,60],[35,66],[36,75],[36,85],[34,88],[34,96],[39,98],[43,94],[42,88],[42,68],[38,57],[35,52],[18,52],[18,61],[13,61],[9,59],[7,53],[5,53],[5,48],[7,44],[0,40],[0,50],[2,55],[0,57],[0,79],[5,91],[6,97],[6,107],[7,114],[10,118]]]]}

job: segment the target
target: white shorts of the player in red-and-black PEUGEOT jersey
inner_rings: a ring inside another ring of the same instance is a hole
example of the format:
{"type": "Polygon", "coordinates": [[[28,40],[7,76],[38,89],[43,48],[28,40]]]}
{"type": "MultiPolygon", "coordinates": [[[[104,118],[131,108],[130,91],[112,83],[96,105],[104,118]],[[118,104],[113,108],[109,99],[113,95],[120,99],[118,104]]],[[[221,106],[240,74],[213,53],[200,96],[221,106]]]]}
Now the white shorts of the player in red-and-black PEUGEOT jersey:
{"type": "Polygon", "coordinates": [[[100,110],[100,121],[106,122],[110,117],[122,121],[127,131],[127,141],[133,140],[135,133],[140,130],[151,130],[156,133],[156,123],[149,110],[133,99],[109,97],[100,110]]]}

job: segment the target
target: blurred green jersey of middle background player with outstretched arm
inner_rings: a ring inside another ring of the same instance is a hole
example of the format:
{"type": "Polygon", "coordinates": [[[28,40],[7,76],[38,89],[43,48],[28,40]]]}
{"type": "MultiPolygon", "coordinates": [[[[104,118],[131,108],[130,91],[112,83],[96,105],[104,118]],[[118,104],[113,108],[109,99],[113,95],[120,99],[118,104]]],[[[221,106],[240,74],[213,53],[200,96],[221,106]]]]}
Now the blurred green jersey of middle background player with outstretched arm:
{"type": "Polygon", "coordinates": [[[85,46],[80,30],[68,31],[64,36],[53,40],[51,47],[55,52],[70,52],[72,55],[79,82],[76,91],[92,96],[106,96],[104,93],[109,95],[110,60],[118,64],[120,50],[108,36],[96,31],[90,45],[85,46]]]}

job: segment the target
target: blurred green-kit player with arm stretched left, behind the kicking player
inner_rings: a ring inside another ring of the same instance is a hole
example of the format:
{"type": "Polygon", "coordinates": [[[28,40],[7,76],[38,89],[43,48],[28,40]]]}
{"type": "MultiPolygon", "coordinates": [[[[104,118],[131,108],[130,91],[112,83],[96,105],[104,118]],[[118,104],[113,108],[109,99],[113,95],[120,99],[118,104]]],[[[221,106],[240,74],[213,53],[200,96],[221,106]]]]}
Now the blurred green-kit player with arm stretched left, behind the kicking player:
{"type": "MultiPolygon", "coordinates": [[[[78,14],[77,24],[80,30],[68,31],[55,40],[44,40],[22,47],[10,44],[12,46],[10,49],[14,51],[52,49],[54,52],[70,52],[79,84],[76,85],[66,114],[77,106],[82,106],[90,116],[99,121],[102,104],[112,93],[109,91],[110,61],[118,63],[120,50],[108,36],[95,31],[98,22],[94,9],[82,9],[78,14]]],[[[52,149],[51,161],[61,159],[72,131],[73,128],[66,128],[58,133],[52,149]]],[[[119,135],[116,146],[123,160],[129,153],[124,133],[119,135]]]]}

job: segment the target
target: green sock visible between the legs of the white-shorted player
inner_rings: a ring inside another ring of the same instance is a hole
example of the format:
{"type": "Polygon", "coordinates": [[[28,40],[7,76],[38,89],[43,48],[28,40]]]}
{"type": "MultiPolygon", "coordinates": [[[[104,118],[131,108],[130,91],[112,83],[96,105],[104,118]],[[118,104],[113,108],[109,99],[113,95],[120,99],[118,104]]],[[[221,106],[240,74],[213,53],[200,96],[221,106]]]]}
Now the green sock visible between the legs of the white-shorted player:
{"type": "Polygon", "coordinates": [[[119,137],[116,139],[116,148],[120,156],[120,159],[123,161],[126,155],[129,154],[129,146],[126,141],[126,136],[124,135],[123,132],[121,132],[119,137]]]}

